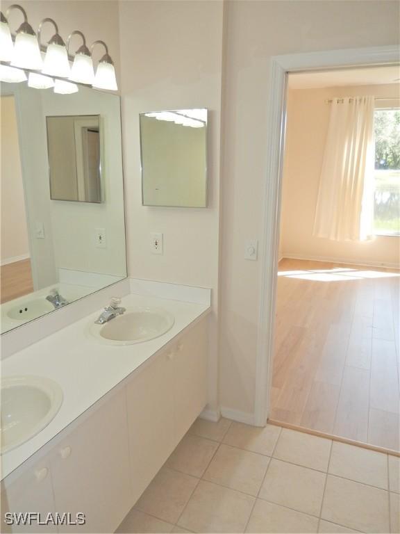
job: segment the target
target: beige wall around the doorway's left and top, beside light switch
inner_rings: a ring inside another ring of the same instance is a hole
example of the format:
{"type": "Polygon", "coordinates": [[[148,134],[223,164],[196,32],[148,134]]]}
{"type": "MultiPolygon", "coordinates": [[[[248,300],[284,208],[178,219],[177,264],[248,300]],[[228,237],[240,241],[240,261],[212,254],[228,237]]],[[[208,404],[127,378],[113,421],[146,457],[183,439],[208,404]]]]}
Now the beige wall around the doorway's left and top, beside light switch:
{"type": "Polygon", "coordinates": [[[232,1],[226,19],[221,254],[221,401],[252,414],[267,168],[269,60],[278,54],[372,47],[399,40],[399,6],[387,1],[232,1]]]}

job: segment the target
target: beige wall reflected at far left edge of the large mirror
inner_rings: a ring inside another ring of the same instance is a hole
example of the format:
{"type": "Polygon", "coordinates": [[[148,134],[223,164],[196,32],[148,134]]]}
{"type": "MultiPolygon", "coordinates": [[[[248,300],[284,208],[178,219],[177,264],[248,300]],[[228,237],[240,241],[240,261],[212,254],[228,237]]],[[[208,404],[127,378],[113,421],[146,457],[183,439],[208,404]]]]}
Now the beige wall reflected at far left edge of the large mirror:
{"type": "Polygon", "coordinates": [[[24,187],[14,97],[1,102],[1,256],[0,264],[29,256],[24,187]]]}

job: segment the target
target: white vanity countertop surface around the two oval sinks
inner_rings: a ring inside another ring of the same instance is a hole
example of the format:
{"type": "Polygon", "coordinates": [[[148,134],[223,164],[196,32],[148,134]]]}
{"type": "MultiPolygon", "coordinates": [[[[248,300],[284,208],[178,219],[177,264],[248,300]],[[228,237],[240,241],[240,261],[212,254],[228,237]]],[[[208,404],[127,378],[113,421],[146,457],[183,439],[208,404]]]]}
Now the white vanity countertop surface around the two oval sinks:
{"type": "Polygon", "coordinates": [[[169,332],[150,341],[126,346],[108,345],[88,334],[88,325],[101,313],[101,310],[97,310],[3,360],[3,377],[37,375],[51,378],[63,389],[64,400],[53,421],[38,435],[1,455],[2,479],[138,369],[185,327],[210,310],[208,304],[140,295],[124,297],[122,305],[164,308],[174,315],[174,326],[169,332]]]}

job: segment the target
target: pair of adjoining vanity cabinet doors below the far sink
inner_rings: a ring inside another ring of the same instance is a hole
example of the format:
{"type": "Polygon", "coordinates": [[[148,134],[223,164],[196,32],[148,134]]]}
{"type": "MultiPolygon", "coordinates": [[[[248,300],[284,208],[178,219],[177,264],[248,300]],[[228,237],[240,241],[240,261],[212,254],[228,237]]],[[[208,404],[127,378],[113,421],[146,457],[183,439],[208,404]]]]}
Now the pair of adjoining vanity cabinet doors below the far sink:
{"type": "Polygon", "coordinates": [[[206,325],[190,328],[126,386],[133,501],[206,405],[206,325]]]}

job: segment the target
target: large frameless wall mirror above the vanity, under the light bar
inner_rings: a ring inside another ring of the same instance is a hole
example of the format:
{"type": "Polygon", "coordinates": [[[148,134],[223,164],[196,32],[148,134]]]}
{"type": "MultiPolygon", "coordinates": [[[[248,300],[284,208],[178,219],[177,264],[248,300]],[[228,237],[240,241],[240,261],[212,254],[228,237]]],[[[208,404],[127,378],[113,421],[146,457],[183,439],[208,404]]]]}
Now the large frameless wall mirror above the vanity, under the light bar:
{"type": "Polygon", "coordinates": [[[1,332],[126,277],[120,102],[1,84],[1,332]]]}

